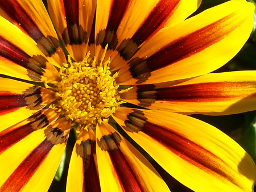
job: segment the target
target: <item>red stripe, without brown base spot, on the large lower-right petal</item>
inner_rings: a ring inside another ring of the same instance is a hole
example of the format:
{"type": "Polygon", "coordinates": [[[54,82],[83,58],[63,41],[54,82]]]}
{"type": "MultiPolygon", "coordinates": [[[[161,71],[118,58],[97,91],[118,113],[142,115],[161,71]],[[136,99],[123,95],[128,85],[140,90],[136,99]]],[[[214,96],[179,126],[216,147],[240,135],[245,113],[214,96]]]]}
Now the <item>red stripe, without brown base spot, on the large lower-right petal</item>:
{"type": "MultiPolygon", "coordinates": [[[[185,161],[188,161],[206,172],[218,174],[221,177],[236,183],[232,176],[229,176],[229,174],[225,172],[225,168],[221,165],[224,162],[222,162],[220,158],[193,141],[183,137],[179,133],[148,122],[144,123],[142,132],[160,142],[164,147],[167,147],[170,151],[180,158],[183,158],[185,161]]],[[[228,165],[225,164],[225,166],[228,165]]]]}

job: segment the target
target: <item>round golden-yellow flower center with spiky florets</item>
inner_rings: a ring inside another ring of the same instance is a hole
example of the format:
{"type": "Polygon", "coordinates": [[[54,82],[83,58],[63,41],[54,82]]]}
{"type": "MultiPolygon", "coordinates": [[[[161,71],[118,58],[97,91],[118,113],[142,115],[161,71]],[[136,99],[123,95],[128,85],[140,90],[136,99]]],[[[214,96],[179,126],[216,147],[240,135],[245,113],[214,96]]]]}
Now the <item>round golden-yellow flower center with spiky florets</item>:
{"type": "Polygon", "coordinates": [[[124,103],[115,83],[118,73],[110,72],[110,60],[102,64],[105,52],[99,64],[90,53],[81,62],[68,56],[69,63],[60,69],[61,81],[55,84],[57,103],[52,108],[84,128],[101,123],[124,103]]]}

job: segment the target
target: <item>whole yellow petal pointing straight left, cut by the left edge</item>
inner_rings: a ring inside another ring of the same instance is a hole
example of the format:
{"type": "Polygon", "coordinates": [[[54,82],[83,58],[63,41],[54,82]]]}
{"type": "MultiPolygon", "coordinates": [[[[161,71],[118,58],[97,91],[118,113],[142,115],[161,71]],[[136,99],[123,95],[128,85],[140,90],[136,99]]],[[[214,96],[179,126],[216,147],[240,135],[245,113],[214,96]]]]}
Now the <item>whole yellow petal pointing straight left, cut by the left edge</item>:
{"type": "Polygon", "coordinates": [[[0,131],[27,119],[54,100],[55,93],[51,90],[0,78],[0,131]]]}

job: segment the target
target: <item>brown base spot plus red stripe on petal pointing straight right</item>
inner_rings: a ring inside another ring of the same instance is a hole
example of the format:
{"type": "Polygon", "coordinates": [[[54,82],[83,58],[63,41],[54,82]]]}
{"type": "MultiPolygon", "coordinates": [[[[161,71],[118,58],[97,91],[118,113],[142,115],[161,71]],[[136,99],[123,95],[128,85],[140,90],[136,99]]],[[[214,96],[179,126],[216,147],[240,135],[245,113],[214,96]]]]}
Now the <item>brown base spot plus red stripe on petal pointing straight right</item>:
{"type": "Polygon", "coordinates": [[[253,95],[251,89],[254,89],[254,83],[203,82],[158,89],[154,85],[138,85],[137,88],[137,98],[142,105],[151,101],[217,102],[253,95]]]}

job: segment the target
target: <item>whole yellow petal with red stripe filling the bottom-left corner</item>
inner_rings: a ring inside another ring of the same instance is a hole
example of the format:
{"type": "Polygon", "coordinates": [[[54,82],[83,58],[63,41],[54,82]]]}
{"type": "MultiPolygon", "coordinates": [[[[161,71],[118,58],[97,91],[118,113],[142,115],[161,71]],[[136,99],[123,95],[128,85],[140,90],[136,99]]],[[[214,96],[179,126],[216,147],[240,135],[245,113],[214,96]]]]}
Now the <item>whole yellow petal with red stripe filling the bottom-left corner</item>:
{"type": "Polygon", "coordinates": [[[70,127],[71,122],[59,119],[3,152],[0,190],[47,191],[63,155],[70,127]]]}

